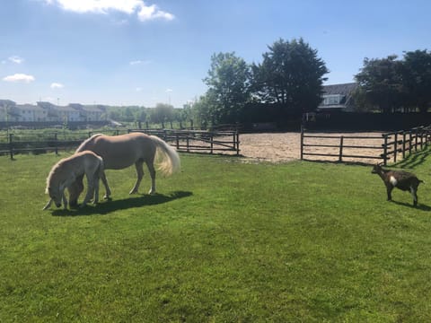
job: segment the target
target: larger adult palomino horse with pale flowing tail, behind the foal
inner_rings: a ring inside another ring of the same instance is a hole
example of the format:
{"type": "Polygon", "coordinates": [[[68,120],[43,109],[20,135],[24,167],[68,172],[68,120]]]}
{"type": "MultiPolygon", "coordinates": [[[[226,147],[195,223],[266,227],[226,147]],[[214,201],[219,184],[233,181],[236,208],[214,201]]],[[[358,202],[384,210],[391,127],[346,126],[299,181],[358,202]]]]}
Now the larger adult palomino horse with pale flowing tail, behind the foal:
{"type": "MultiPolygon", "coordinates": [[[[155,193],[154,160],[158,162],[158,170],[165,175],[171,175],[180,169],[180,156],[162,139],[154,135],[143,133],[130,133],[126,135],[92,135],[85,140],[76,153],[90,150],[103,158],[105,170],[121,170],[135,164],[137,179],[135,186],[129,194],[137,192],[139,184],[144,176],[143,163],[145,162],[151,176],[151,188],[149,194],[155,193]],[[161,158],[156,158],[161,157],[161,158]]],[[[110,198],[108,181],[101,177],[106,189],[105,198],[110,198]]],[[[70,203],[76,205],[77,199],[83,191],[83,180],[77,178],[75,183],[68,187],[70,203]]]]}

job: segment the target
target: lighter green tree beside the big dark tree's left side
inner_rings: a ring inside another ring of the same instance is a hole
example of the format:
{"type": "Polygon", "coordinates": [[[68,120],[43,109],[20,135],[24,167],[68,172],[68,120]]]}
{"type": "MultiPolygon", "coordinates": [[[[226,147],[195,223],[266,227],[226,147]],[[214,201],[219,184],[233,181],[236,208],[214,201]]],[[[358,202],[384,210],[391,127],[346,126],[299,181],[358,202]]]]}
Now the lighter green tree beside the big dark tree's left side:
{"type": "Polygon", "coordinates": [[[204,82],[208,86],[207,117],[215,124],[239,121],[250,99],[250,66],[234,52],[214,54],[204,82]]]}

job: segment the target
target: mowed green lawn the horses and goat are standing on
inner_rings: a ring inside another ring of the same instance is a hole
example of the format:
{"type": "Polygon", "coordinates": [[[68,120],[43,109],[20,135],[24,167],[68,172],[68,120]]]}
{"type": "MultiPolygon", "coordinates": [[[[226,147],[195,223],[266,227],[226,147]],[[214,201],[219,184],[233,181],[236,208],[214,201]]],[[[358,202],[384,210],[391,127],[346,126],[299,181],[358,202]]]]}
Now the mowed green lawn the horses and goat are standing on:
{"type": "Polygon", "coordinates": [[[111,201],[41,211],[66,155],[0,158],[1,322],[431,321],[427,152],[418,208],[370,166],[181,154],[156,196],[108,170],[111,201]]]}

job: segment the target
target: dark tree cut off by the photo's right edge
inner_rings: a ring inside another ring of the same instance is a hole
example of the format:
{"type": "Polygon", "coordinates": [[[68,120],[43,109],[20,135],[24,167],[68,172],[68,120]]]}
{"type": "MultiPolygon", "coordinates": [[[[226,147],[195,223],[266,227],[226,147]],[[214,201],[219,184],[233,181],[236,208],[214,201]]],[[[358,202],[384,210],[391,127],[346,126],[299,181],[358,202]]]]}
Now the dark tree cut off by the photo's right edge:
{"type": "Polygon", "coordinates": [[[427,112],[431,104],[431,52],[416,50],[404,53],[402,83],[409,105],[427,112]]]}

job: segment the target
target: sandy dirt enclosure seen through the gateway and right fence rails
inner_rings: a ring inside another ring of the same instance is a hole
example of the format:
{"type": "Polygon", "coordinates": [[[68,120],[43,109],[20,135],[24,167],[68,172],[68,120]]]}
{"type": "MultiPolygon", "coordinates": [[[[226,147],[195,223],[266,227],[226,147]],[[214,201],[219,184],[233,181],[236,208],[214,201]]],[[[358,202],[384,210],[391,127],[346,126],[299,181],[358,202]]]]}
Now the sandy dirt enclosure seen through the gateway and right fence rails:
{"type": "MultiPolygon", "coordinates": [[[[363,146],[364,148],[345,147],[343,155],[379,156],[383,153],[382,133],[337,133],[337,134],[309,134],[328,135],[334,138],[322,139],[305,138],[304,144],[324,144],[337,147],[304,147],[304,153],[330,153],[335,156],[311,156],[304,155],[304,159],[321,161],[338,161],[339,158],[339,136],[346,136],[343,139],[343,146],[363,146]],[[369,137],[369,139],[354,137],[369,137]],[[374,138],[376,137],[376,138],[374,138]],[[378,139],[380,137],[380,139],[378,139]]],[[[240,149],[244,157],[251,160],[264,162],[290,162],[300,159],[301,134],[300,133],[267,133],[267,134],[242,134],[240,135],[240,149]]],[[[343,157],[345,162],[377,162],[377,159],[367,159],[358,157],[343,157]]]]}

